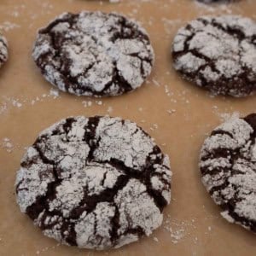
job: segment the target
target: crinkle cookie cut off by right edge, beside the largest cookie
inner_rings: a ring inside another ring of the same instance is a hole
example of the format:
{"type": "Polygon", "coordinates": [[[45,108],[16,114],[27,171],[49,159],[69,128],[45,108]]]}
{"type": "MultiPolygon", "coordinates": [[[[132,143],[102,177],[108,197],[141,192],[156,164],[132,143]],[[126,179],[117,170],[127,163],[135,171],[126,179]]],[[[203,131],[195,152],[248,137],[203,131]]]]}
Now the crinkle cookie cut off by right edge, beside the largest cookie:
{"type": "Polygon", "coordinates": [[[202,183],[221,215],[256,232],[256,113],[219,125],[201,148],[202,183]]]}

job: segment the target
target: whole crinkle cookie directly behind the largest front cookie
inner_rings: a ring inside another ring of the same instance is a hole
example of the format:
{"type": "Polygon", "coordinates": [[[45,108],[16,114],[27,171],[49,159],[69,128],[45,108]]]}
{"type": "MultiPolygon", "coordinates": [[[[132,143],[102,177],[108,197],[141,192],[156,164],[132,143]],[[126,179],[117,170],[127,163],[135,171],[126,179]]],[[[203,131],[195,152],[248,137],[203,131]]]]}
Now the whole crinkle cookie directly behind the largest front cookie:
{"type": "Polygon", "coordinates": [[[77,96],[118,96],[141,86],[154,51],[135,21],[102,12],[65,13],[38,32],[32,57],[44,78],[77,96]]]}

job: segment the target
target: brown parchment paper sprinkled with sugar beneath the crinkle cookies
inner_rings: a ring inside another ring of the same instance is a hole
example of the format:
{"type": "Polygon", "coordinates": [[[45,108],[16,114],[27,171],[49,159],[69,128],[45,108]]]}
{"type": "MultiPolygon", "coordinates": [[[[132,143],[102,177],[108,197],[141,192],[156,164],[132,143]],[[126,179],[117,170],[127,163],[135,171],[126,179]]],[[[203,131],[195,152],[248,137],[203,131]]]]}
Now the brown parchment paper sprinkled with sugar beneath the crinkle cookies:
{"type": "Polygon", "coordinates": [[[0,70],[0,255],[255,255],[256,237],[227,223],[201,184],[198,155],[207,133],[232,114],[255,111],[255,96],[212,97],[172,69],[170,48],[179,26],[200,15],[256,18],[254,0],[209,7],[193,0],[1,0],[0,29],[9,61],[0,70]],[[148,30],[156,61],[140,89],[113,98],[77,97],[52,90],[32,61],[36,31],[55,15],[82,9],[116,11],[148,30]],[[253,16],[254,15],[254,16],[253,16]],[[131,119],[172,160],[172,203],[150,237],[108,252],[67,247],[42,235],[15,203],[15,173],[38,133],[70,115],[110,114],[131,119]]]}

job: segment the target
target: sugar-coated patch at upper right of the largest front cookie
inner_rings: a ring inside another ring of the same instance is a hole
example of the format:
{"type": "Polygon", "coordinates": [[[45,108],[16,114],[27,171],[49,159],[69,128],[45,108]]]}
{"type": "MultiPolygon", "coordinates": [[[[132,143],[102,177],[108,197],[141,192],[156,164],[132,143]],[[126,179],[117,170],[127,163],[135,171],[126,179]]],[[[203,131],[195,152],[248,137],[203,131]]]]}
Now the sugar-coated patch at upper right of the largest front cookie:
{"type": "Polygon", "coordinates": [[[102,137],[95,156],[97,160],[110,160],[117,158],[124,161],[125,166],[140,169],[154,147],[154,142],[148,140],[148,136],[137,128],[135,123],[125,121],[123,124],[116,122],[115,119],[101,119],[96,129],[96,137],[100,134],[106,134],[102,137]],[[119,133],[122,129],[122,133],[119,133]],[[109,151],[109,146],[112,148],[109,151]]]}

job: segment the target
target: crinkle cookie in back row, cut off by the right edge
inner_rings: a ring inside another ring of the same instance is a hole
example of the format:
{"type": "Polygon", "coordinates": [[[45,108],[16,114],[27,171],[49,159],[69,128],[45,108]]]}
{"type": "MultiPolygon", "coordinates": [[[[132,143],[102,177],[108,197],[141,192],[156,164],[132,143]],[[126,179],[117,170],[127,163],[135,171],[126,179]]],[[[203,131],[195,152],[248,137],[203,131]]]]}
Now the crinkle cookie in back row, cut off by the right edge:
{"type": "Polygon", "coordinates": [[[175,69],[216,95],[248,96],[256,90],[256,22],[234,15],[205,16],[177,32],[175,69]]]}

